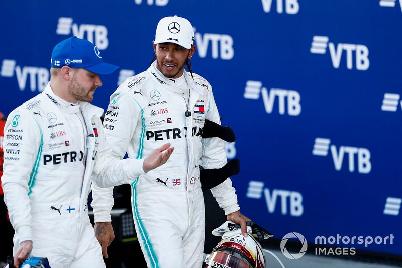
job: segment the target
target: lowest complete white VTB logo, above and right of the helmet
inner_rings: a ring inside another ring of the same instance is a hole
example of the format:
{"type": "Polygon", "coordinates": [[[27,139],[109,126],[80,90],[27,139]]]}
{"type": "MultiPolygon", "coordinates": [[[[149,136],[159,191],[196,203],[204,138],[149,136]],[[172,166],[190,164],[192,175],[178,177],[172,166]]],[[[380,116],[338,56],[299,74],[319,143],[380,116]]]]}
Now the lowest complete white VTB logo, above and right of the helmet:
{"type": "Polygon", "coordinates": [[[282,215],[299,217],[303,215],[303,195],[296,191],[264,188],[264,182],[250,181],[246,196],[253,199],[261,199],[264,194],[268,213],[275,213],[276,204],[280,200],[279,207],[282,215]],[[288,209],[289,208],[289,209],[288,209]]]}

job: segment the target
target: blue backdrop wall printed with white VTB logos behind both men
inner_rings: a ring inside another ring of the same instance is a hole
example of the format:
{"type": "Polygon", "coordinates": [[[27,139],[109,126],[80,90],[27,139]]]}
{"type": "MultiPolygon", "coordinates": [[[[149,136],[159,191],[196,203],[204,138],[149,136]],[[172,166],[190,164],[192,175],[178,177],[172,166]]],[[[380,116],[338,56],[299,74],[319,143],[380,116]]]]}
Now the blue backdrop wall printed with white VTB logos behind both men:
{"type": "Polygon", "coordinates": [[[0,111],[43,90],[53,47],[72,35],[120,66],[95,93],[106,109],[118,83],[148,68],[158,21],[185,17],[193,71],[236,133],[227,153],[241,161],[242,212],[279,239],[392,234],[334,245],[400,255],[400,2],[3,1],[0,111]]]}

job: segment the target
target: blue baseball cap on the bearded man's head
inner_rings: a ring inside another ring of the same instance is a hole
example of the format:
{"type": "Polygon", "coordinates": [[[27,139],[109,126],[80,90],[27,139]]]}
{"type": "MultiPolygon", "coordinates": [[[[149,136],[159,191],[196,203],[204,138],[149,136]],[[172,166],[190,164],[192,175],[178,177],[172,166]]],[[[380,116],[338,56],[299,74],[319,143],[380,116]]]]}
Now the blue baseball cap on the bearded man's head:
{"type": "Polygon", "coordinates": [[[118,66],[104,62],[94,44],[76,36],[61,41],[53,48],[50,67],[63,66],[83,68],[96,74],[111,74],[119,69],[118,66]]]}

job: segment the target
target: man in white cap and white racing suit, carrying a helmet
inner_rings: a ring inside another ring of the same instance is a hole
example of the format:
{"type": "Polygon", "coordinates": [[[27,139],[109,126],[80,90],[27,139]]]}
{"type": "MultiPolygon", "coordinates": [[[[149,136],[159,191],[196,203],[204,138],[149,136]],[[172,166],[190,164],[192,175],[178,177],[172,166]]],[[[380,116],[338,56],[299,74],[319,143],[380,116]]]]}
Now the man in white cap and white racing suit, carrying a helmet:
{"type": "MultiPolygon", "coordinates": [[[[199,167],[221,168],[227,162],[222,140],[202,139],[204,121],[220,123],[220,117],[211,85],[193,74],[190,65],[190,72],[184,70],[195,51],[193,41],[188,20],[177,16],[160,20],[154,41],[156,61],[119,86],[103,122],[117,159],[126,152],[129,158],[142,159],[166,142],[174,147],[165,165],[131,182],[135,228],[148,267],[202,266],[205,211],[199,167]]],[[[123,180],[98,176],[96,183],[109,187],[123,180]]],[[[239,211],[230,178],[211,191],[228,220],[241,224],[247,233],[250,219],[239,211]]],[[[97,222],[102,220],[95,214],[97,222]]]]}

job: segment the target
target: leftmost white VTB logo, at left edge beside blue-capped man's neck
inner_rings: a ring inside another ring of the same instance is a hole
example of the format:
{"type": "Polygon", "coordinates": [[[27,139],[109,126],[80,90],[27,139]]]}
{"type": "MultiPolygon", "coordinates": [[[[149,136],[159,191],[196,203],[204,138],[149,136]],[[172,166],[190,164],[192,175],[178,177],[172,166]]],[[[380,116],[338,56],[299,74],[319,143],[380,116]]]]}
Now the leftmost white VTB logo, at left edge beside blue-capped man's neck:
{"type": "Polygon", "coordinates": [[[31,91],[38,90],[42,92],[49,82],[50,73],[47,68],[32,66],[21,67],[17,65],[17,61],[13,59],[4,59],[2,61],[0,76],[14,77],[14,73],[16,74],[18,87],[21,91],[25,90],[28,77],[30,78],[29,88],[31,91]]]}

